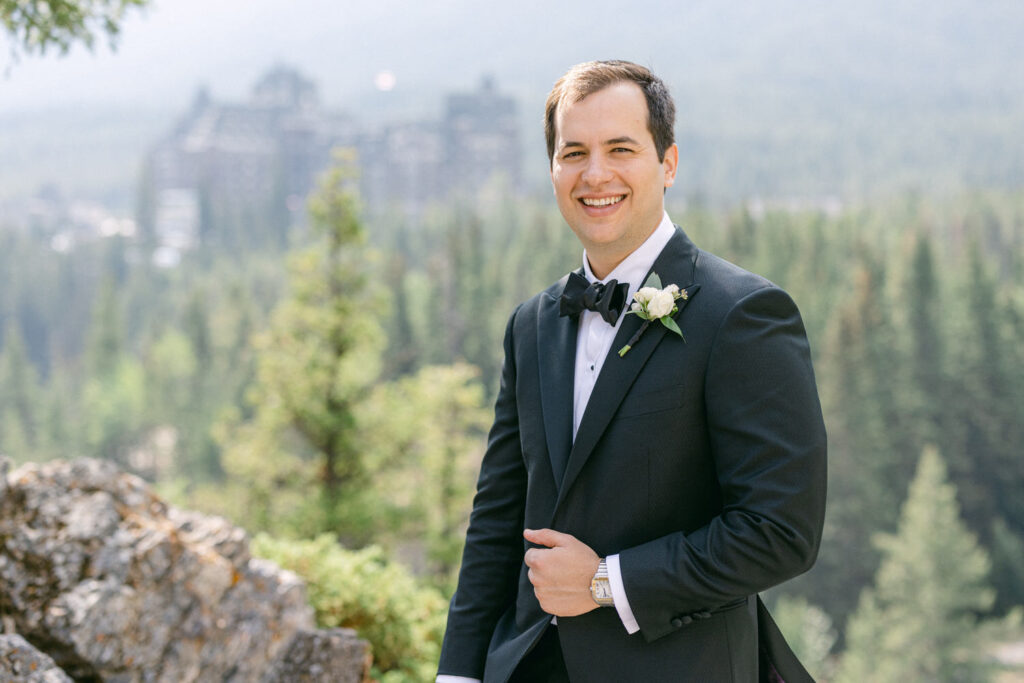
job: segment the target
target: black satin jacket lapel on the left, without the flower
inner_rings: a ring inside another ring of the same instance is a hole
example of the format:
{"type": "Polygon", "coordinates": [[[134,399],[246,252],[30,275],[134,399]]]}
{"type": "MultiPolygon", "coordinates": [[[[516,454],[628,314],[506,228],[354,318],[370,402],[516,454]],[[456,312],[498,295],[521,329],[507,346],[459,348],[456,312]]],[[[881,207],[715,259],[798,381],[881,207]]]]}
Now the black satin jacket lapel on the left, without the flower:
{"type": "MultiPolygon", "coordinates": [[[[558,290],[561,292],[561,289],[558,290]]],[[[555,486],[572,447],[572,384],[577,318],[559,316],[558,299],[545,297],[538,309],[537,352],[541,371],[541,413],[555,486]]]]}

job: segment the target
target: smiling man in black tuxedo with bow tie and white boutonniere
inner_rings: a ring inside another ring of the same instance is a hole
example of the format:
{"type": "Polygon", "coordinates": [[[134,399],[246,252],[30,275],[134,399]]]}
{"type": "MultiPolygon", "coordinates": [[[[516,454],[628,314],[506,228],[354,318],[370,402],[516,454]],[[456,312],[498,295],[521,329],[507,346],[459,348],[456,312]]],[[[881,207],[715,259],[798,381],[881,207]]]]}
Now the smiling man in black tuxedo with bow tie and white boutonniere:
{"type": "Polygon", "coordinates": [[[630,62],[573,67],[548,97],[584,264],[509,319],[438,681],[810,680],[757,598],[820,539],[808,343],[784,292],[665,214],[674,125],[630,62]],[[650,273],[676,310],[616,315],[650,273]]]}

